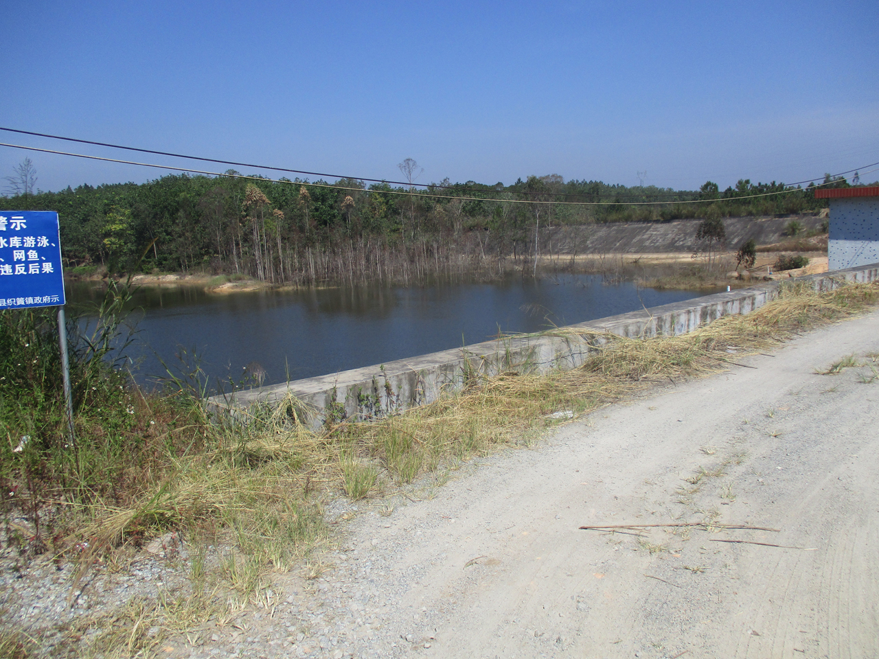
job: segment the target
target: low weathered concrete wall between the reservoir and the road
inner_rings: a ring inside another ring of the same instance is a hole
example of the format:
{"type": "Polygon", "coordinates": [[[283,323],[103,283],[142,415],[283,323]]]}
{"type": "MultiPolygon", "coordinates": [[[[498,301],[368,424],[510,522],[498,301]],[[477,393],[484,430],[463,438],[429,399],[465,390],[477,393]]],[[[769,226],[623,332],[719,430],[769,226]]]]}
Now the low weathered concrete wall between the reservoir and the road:
{"type": "MultiPolygon", "coordinates": [[[[831,290],[844,282],[877,280],[879,264],[795,279],[809,282],[819,290],[831,290]]],[[[293,396],[296,407],[309,416],[315,427],[323,424],[328,415],[335,419],[377,418],[435,401],[439,395],[460,389],[473,378],[508,370],[546,373],[556,368],[576,368],[603,342],[603,334],[630,338],[677,336],[723,315],[747,314],[773,300],[779,286],[779,282],[765,282],[730,293],[570,325],[556,332],[556,336],[541,334],[485,341],[397,359],[381,366],[218,395],[209,398],[208,405],[216,411],[235,414],[236,410],[254,404],[277,405],[293,396]]]]}

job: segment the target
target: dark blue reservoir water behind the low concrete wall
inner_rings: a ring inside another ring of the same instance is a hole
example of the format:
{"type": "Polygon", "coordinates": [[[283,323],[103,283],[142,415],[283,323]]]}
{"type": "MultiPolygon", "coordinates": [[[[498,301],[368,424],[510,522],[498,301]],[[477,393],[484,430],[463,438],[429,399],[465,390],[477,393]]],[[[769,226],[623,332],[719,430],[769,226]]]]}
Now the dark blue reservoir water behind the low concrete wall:
{"type": "MultiPolygon", "coordinates": [[[[76,306],[101,294],[75,282],[68,301],[76,306]]],[[[165,374],[162,360],[179,367],[177,355],[185,351],[198,355],[212,383],[241,380],[245,367],[253,373],[259,366],[264,384],[275,384],[474,344],[498,331],[540,331],[700,294],[638,290],[630,282],[603,286],[589,275],[225,294],[141,287],[132,312],[139,331],[128,354],[141,382],[165,374]]]]}

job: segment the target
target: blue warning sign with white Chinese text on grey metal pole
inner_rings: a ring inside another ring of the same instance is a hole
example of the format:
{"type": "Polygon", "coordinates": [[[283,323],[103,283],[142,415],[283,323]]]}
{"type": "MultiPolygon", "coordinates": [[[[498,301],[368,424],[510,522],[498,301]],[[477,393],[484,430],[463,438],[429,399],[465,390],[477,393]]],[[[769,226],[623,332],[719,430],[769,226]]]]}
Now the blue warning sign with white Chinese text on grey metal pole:
{"type": "Polygon", "coordinates": [[[54,211],[0,211],[0,309],[58,306],[64,399],[69,441],[74,446],[64,302],[58,214],[54,211]]]}

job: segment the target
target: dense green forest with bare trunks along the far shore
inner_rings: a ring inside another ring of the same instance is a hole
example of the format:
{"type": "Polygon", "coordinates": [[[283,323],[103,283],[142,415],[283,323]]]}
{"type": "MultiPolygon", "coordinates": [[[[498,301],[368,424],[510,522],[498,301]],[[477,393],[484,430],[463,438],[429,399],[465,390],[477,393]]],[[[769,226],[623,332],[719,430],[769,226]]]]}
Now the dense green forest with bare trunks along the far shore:
{"type": "MultiPolygon", "coordinates": [[[[0,199],[0,209],[57,211],[63,257],[74,272],[205,272],[300,286],[408,281],[464,272],[474,260],[490,261],[498,272],[524,267],[539,253],[537,229],[563,223],[800,214],[826,206],[811,185],[750,180],[724,191],[708,181],[692,192],[558,175],[416,189],[355,179],[274,181],[228,170],[61,192],[34,193],[27,183],[0,199]],[[767,192],[783,193],[752,196],[767,192]],[[693,200],[701,203],[681,203],[693,200]]],[[[825,185],[848,184],[828,176],[825,185]]]]}

